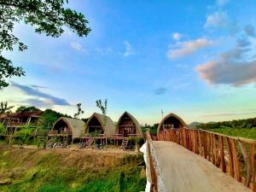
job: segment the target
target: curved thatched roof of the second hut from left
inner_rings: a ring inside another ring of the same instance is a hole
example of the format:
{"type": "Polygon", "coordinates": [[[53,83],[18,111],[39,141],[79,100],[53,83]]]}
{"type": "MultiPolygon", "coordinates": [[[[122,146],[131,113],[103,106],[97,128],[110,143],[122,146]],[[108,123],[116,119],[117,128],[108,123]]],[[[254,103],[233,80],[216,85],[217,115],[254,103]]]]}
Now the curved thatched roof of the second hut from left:
{"type": "Polygon", "coordinates": [[[102,129],[104,131],[104,134],[106,134],[107,137],[112,137],[113,134],[114,134],[114,124],[113,124],[113,120],[110,119],[108,116],[106,116],[107,118],[107,121],[106,121],[106,125],[104,125],[104,115],[100,114],[100,113],[93,113],[91,116],[90,116],[90,119],[88,119],[86,125],[85,125],[85,133],[88,133],[89,132],[89,129],[88,129],[88,125],[90,123],[90,120],[95,117],[99,122],[100,124],[102,125],[102,129]]]}

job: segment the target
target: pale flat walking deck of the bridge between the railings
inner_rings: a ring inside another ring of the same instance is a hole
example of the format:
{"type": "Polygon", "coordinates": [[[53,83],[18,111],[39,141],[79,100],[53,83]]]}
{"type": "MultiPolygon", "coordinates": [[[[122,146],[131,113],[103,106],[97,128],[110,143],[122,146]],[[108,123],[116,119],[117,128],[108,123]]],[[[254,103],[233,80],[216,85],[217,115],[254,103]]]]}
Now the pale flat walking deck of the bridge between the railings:
{"type": "Polygon", "coordinates": [[[200,155],[172,142],[154,141],[166,192],[251,192],[200,155]]]}

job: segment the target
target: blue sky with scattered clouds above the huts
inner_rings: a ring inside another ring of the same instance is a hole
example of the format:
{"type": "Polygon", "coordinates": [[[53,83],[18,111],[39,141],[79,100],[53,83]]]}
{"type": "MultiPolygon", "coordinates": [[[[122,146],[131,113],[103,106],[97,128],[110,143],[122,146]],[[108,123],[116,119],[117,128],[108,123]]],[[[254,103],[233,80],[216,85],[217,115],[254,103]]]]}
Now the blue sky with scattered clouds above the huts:
{"type": "Polygon", "coordinates": [[[91,32],[61,38],[17,24],[25,52],[3,55],[26,77],[10,79],[0,101],[88,118],[108,99],[114,121],[141,124],[176,113],[187,124],[256,116],[256,3],[247,0],[73,0],[91,32]]]}

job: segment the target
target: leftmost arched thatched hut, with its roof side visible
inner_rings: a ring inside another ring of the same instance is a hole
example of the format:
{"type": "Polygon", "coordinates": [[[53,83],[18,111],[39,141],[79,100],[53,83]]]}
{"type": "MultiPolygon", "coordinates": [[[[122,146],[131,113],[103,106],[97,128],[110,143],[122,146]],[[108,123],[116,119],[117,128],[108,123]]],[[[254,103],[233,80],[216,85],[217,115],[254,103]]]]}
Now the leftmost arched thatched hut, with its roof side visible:
{"type": "Polygon", "coordinates": [[[84,133],[84,125],[83,120],[61,117],[55,121],[51,131],[57,131],[57,134],[72,136],[74,139],[81,137],[84,133]]]}

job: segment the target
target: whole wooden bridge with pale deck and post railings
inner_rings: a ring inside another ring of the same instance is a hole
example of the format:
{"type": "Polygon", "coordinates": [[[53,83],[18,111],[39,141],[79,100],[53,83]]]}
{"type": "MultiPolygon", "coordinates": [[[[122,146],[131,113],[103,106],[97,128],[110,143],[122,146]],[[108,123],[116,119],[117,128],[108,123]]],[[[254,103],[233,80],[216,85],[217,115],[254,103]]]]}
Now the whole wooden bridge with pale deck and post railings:
{"type": "Polygon", "coordinates": [[[188,128],[146,138],[151,191],[256,192],[254,140],[188,128]]]}

